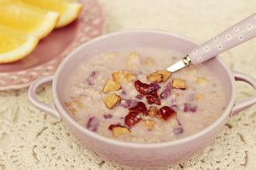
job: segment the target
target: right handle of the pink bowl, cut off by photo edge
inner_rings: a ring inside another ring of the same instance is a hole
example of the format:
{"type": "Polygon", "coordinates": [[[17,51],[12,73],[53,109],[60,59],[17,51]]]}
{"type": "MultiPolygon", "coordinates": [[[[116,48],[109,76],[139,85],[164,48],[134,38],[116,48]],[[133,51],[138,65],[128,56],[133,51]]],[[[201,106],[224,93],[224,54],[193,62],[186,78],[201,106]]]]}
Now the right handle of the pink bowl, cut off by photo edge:
{"type": "MultiPolygon", "coordinates": [[[[233,73],[236,81],[243,81],[245,83],[248,83],[251,85],[251,87],[254,88],[254,90],[256,90],[256,79],[244,73],[239,73],[237,71],[234,71],[233,73]]],[[[256,93],[254,93],[254,95],[249,99],[236,101],[230,116],[234,116],[238,114],[240,111],[245,110],[254,104],[256,104],[256,93]]]]}

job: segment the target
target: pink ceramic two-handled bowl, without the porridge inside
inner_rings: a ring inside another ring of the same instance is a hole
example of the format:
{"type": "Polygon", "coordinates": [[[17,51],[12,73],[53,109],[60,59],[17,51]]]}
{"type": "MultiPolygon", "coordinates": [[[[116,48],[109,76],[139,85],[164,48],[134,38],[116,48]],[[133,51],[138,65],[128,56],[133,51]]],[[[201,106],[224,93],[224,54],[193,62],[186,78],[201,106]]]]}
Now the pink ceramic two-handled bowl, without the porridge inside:
{"type": "Polygon", "coordinates": [[[244,81],[255,88],[256,80],[254,78],[242,73],[230,71],[218,58],[204,63],[223,82],[224,92],[228,99],[226,110],[223,111],[223,114],[213,124],[203,131],[199,131],[197,134],[177,141],[157,144],[136,144],[115,141],[88,131],[74,121],[67,113],[67,110],[64,109],[64,100],[61,97],[61,93],[64,90],[63,84],[67,81],[67,77],[70,76],[74,68],[87,57],[95,56],[95,53],[137,47],[157,47],[172,49],[180,53],[189,53],[196,46],[199,46],[199,44],[191,39],[158,31],[128,31],[102,36],[86,42],[67,56],[54,76],[44,76],[36,80],[29,87],[29,99],[40,110],[64,122],[67,129],[84,148],[92,151],[105,161],[115,162],[121,165],[147,167],[175,165],[185,162],[189,158],[192,158],[193,155],[198,154],[202,148],[205,148],[216,138],[216,135],[221,131],[230,116],[256,103],[256,95],[248,100],[239,102],[236,102],[235,99],[235,80],[244,81]],[[49,82],[53,83],[54,105],[43,104],[36,99],[37,87],[49,82]]]}

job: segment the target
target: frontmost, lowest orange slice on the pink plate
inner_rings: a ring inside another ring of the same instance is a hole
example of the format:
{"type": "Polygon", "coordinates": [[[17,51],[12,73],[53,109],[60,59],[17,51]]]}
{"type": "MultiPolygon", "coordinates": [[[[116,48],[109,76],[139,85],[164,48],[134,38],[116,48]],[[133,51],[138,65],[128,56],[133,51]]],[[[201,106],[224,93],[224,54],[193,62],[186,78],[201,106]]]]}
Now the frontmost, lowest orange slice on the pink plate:
{"type": "Polygon", "coordinates": [[[38,41],[36,36],[0,26],[0,63],[12,63],[28,56],[38,41]]]}

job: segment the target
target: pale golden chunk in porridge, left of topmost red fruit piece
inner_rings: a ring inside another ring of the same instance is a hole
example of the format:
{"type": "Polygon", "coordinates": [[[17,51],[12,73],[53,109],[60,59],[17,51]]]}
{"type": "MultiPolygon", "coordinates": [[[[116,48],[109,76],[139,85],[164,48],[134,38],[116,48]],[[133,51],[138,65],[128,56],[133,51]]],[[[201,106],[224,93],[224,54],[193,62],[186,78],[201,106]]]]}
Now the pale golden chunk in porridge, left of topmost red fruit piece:
{"type": "Polygon", "coordinates": [[[116,83],[130,83],[136,79],[136,75],[128,71],[116,71],[112,73],[112,78],[116,83]]]}

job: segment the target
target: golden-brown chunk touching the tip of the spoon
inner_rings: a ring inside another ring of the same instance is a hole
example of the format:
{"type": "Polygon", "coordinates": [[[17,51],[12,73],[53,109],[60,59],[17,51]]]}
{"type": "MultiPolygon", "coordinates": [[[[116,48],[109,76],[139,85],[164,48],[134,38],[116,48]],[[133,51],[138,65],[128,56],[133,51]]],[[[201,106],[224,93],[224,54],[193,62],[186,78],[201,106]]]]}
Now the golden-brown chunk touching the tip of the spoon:
{"type": "Polygon", "coordinates": [[[147,76],[147,80],[150,82],[165,82],[168,80],[168,78],[171,76],[171,72],[168,70],[158,70],[154,73],[151,73],[149,76],[147,76]]]}

